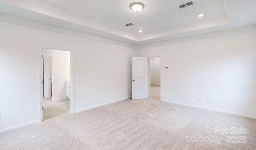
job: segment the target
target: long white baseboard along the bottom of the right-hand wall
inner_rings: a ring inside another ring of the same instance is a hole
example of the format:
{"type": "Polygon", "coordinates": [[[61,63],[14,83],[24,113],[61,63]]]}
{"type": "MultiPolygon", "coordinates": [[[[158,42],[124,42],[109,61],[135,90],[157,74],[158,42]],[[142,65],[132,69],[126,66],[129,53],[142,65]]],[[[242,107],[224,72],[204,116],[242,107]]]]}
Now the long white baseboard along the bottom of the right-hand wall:
{"type": "Polygon", "coordinates": [[[245,114],[241,114],[241,113],[234,113],[234,112],[223,111],[223,110],[219,110],[219,109],[212,109],[212,108],[201,107],[201,106],[196,106],[196,105],[189,105],[189,104],[185,104],[185,103],[178,103],[178,102],[167,101],[167,100],[163,100],[163,99],[161,101],[167,102],[167,103],[173,103],[173,104],[177,104],[177,105],[183,105],[183,106],[188,106],[188,107],[194,107],[194,108],[209,110],[209,111],[216,111],[216,112],[219,112],[219,113],[226,113],[226,114],[229,114],[229,115],[236,115],[236,116],[240,116],[240,117],[256,119],[256,116],[245,115],[245,114]]]}

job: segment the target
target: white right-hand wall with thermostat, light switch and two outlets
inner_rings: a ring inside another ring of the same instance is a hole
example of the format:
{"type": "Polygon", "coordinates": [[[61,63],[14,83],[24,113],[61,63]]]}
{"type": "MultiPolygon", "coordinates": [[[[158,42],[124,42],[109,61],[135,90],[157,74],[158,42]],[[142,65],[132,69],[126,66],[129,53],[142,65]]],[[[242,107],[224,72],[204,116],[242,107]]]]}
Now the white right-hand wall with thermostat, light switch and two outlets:
{"type": "Polygon", "coordinates": [[[162,100],[256,118],[256,26],[139,45],[137,55],[161,56],[162,100]]]}

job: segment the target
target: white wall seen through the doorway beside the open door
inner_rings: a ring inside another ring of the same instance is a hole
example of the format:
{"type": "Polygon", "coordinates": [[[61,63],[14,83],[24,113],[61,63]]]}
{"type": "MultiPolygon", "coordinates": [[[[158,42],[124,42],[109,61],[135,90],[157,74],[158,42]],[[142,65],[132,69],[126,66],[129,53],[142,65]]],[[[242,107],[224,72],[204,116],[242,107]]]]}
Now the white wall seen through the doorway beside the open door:
{"type": "Polygon", "coordinates": [[[161,57],[150,58],[150,84],[161,84],[161,57]]]}

